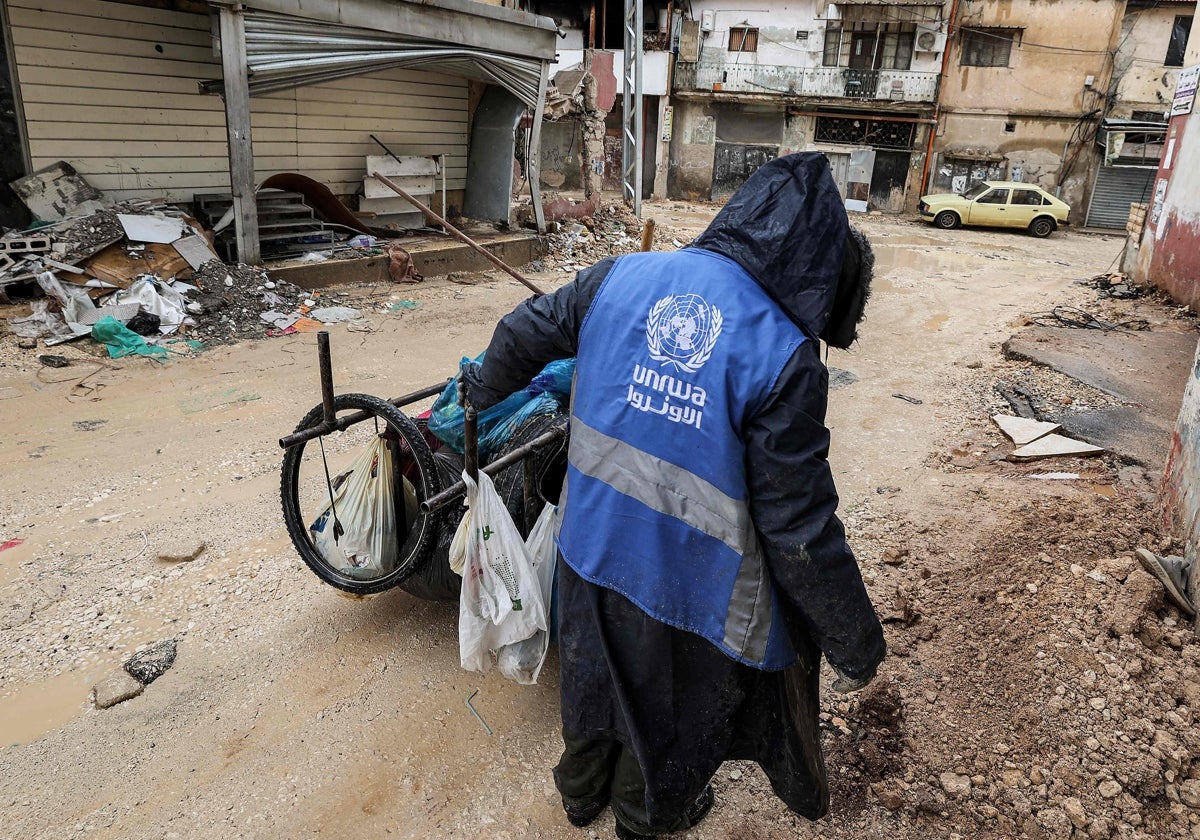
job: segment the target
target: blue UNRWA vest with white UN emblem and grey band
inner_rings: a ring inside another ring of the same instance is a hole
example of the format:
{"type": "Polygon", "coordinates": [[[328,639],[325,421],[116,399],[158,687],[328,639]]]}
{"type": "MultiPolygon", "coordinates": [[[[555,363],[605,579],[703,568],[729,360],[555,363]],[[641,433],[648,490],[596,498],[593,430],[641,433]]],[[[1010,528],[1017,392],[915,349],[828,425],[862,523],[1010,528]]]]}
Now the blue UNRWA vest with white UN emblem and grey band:
{"type": "Polygon", "coordinates": [[[733,260],[617,260],[580,331],[559,548],[733,659],[796,660],[750,520],[746,422],[804,341],[733,260]]]}

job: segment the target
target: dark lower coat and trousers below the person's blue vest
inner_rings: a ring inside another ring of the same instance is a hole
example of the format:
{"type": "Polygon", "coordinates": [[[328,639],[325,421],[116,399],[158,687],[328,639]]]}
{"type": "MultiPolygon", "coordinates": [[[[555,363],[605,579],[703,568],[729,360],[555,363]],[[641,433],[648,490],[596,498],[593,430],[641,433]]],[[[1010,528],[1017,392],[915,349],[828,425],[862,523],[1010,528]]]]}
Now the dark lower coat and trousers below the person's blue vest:
{"type": "Polygon", "coordinates": [[[686,828],[686,812],[728,760],[756,761],[810,820],[828,810],[817,730],[820,653],[767,672],[733,661],[611,589],[558,565],[565,750],[554,780],[568,805],[611,796],[638,834],[686,828]]]}

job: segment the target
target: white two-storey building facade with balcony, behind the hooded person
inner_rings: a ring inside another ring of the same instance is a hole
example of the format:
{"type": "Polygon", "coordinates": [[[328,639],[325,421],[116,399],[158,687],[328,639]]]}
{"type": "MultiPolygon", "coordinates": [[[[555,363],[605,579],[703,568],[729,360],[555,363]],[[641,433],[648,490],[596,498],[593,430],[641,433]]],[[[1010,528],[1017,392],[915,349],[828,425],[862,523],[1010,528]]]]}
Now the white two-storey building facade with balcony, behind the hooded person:
{"type": "Polygon", "coordinates": [[[667,192],[725,198],[763,162],[829,157],[857,210],[920,194],[941,4],[696,0],[680,26],[667,192]]]}

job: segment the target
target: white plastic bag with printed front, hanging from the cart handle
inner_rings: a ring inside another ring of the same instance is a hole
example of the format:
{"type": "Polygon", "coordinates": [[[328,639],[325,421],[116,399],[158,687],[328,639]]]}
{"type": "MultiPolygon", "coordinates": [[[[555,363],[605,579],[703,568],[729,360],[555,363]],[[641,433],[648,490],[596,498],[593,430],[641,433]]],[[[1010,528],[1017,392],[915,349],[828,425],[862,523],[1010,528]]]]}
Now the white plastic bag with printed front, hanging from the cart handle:
{"type": "Polygon", "coordinates": [[[458,598],[458,659],[487,673],[492,652],[546,630],[546,608],[533,563],[508,508],[485,473],[464,472],[472,523],[458,598]]]}

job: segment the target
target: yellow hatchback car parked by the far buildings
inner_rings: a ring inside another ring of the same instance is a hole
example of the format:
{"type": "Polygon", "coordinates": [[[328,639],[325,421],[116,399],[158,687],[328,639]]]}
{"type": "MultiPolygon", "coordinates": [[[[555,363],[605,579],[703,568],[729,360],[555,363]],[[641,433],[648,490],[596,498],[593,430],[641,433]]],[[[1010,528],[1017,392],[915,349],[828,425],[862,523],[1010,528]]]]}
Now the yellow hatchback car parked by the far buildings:
{"type": "Polygon", "coordinates": [[[1049,236],[1066,226],[1070,206],[1042,187],[1018,181],[978,181],[961,196],[947,192],[922,196],[920,217],[950,230],[960,224],[1025,228],[1049,236]]]}

